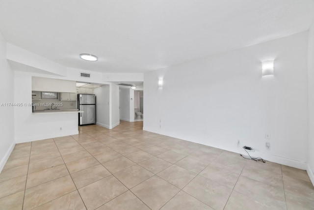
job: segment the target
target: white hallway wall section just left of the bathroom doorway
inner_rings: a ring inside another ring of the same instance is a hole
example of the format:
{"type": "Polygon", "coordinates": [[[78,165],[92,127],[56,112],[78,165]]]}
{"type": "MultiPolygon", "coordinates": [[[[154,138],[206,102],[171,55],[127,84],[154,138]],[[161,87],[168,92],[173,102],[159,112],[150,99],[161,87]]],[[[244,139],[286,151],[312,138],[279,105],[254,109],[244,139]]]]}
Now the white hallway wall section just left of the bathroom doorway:
{"type": "Polygon", "coordinates": [[[120,120],[130,121],[130,88],[119,88],[120,120]]]}

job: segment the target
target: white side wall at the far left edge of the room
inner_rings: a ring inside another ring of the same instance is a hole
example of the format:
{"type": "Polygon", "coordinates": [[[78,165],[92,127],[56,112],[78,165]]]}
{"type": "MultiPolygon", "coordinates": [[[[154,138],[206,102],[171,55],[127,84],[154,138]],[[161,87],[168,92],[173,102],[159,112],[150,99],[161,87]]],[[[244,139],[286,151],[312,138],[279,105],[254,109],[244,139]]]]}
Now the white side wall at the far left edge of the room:
{"type": "Polygon", "coordinates": [[[6,60],[6,42],[0,32],[0,72],[1,72],[1,97],[0,97],[0,172],[15,146],[14,141],[14,108],[2,106],[2,103],[13,103],[13,71],[6,60]]]}

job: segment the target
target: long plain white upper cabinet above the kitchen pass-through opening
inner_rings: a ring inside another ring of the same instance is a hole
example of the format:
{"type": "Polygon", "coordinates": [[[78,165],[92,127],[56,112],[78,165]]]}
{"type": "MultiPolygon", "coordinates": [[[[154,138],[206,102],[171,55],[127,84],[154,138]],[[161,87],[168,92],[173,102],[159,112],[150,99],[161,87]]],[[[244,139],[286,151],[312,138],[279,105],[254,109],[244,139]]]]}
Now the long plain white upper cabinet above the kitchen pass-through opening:
{"type": "Polygon", "coordinates": [[[76,82],[43,77],[32,77],[32,91],[76,93],[76,82]]]}

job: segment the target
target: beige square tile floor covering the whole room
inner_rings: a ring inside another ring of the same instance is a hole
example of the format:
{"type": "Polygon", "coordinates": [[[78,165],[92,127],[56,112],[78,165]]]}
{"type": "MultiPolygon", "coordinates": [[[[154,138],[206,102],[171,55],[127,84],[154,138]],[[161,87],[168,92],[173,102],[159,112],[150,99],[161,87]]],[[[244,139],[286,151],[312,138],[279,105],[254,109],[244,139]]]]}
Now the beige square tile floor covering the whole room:
{"type": "Polygon", "coordinates": [[[142,130],[81,126],[17,144],[0,174],[2,210],[314,210],[305,171],[142,130]]]}

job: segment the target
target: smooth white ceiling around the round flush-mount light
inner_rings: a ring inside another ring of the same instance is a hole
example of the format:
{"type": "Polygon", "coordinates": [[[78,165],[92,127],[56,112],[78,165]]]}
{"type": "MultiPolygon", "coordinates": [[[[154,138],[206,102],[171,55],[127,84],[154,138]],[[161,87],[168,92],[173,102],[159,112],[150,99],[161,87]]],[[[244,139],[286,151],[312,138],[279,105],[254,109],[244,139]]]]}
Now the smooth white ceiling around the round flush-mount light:
{"type": "Polygon", "coordinates": [[[69,67],[112,73],[261,43],[308,30],[313,19],[314,0],[0,0],[8,42],[69,67]]]}

